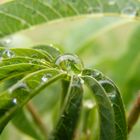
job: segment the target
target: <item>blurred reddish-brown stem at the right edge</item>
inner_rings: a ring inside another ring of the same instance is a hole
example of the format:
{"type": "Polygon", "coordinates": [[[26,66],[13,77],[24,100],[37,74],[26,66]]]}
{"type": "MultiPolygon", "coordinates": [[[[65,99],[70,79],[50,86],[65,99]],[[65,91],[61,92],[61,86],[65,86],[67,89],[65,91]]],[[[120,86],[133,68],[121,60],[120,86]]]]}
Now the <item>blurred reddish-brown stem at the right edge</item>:
{"type": "Polygon", "coordinates": [[[139,91],[139,95],[138,95],[136,101],[134,102],[134,105],[128,115],[128,133],[130,133],[133,126],[138,121],[139,115],[140,115],[140,91],[139,91]]]}

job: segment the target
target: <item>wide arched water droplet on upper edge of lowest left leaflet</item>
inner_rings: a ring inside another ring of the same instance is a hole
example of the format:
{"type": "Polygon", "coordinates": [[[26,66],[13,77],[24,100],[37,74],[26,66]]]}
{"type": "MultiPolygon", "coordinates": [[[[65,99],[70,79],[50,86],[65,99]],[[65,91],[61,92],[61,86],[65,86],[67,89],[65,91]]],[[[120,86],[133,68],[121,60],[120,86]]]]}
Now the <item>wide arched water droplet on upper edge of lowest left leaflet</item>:
{"type": "Polygon", "coordinates": [[[29,91],[29,87],[27,86],[26,83],[18,83],[14,86],[12,86],[10,89],[9,89],[9,93],[12,94],[15,90],[18,90],[18,89],[25,89],[27,91],[29,91]]]}

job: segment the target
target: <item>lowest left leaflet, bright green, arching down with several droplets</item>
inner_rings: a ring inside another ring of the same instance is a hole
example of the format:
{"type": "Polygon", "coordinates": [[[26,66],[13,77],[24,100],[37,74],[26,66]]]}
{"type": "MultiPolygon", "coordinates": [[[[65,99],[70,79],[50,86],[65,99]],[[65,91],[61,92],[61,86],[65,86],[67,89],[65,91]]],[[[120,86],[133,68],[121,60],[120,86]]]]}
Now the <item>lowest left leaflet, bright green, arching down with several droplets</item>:
{"type": "Polygon", "coordinates": [[[55,69],[44,69],[25,76],[0,96],[0,132],[13,114],[47,85],[63,78],[55,69]]]}

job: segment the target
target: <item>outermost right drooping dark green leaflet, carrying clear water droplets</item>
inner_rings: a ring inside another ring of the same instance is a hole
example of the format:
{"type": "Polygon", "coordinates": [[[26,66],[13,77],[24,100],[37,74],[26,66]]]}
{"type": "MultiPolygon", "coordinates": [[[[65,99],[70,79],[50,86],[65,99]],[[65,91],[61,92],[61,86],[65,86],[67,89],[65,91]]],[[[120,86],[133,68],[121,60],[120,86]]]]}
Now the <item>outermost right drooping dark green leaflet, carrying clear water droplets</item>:
{"type": "Polygon", "coordinates": [[[126,140],[127,139],[127,123],[125,117],[125,110],[122,102],[121,95],[116,85],[101,72],[97,70],[86,69],[83,71],[84,74],[95,78],[100,85],[104,88],[109,97],[115,114],[115,126],[116,136],[115,140],[126,140]]]}

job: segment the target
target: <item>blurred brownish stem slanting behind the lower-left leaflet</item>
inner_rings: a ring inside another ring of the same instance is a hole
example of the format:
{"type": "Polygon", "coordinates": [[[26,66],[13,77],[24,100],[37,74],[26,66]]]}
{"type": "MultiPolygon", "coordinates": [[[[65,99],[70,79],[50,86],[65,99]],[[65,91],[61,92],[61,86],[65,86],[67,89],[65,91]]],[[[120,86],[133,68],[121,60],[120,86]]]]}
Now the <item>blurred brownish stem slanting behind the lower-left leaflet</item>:
{"type": "Polygon", "coordinates": [[[35,109],[35,107],[31,101],[27,104],[27,109],[30,112],[30,114],[32,115],[34,122],[36,123],[36,125],[38,126],[38,128],[40,129],[42,134],[44,135],[45,140],[47,140],[48,133],[47,133],[46,126],[42,122],[38,111],[35,109]]]}

